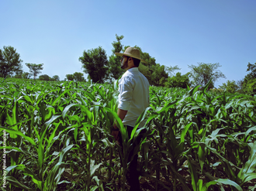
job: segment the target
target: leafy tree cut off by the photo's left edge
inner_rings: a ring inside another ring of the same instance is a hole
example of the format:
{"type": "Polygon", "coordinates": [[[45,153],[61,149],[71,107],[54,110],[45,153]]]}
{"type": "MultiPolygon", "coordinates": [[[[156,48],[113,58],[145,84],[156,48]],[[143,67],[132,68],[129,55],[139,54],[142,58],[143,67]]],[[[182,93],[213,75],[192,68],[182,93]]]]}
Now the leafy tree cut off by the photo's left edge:
{"type": "Polygon", "coordinates": [[[0,49],[0,76],[7,77],[13,73],[19,74],[22,70],[22,60],[19,53],[12,46],[0,49]]]}

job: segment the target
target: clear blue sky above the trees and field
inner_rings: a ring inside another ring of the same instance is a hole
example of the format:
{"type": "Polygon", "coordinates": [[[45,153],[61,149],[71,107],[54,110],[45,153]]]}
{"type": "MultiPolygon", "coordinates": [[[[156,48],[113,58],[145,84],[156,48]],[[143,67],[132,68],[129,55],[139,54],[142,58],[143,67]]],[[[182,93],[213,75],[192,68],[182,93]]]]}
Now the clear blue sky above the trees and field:
{"type": "MultiPolygon", "coordinates": [[[[227,80],[241,80],[256,63],[256,1],[251,0],[0,0],[0,49],[13,46],[41,74],[82,72],[84,50],[108,56],[116,34],[165,66],[220,63],[227,80]]],[[[85,75],[86,77],[86,75],[85,75]]]]}

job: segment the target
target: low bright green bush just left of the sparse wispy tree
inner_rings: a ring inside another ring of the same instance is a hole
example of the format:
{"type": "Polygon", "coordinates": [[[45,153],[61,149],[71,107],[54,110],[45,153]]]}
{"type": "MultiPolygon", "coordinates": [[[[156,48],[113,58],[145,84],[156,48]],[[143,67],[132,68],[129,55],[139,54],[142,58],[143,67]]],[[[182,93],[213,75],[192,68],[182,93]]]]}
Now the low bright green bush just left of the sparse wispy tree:
{"type": "Polygon", "coordinates": [[[168,81],[165,83],[166,87],[182,87],[187,88],[187,85],[190,87],[191,82],[189,81],[189,75],[182,73],[176,73],[173,77],[168,77],[168,81]]]}

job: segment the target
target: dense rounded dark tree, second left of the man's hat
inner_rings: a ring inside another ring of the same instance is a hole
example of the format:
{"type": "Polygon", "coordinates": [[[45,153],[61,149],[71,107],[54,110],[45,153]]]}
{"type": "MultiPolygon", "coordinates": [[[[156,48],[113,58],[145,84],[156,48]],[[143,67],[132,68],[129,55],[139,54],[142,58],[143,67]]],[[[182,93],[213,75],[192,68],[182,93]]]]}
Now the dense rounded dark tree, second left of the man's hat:
{"type": "Polygon", "coordinates": [[[106,50],[101,46],[96,49],[84,51],[83,56],[79,58],[85,73],[91,77],[94,83],[103,83],[108,73],[108,60],[106,50]]]}

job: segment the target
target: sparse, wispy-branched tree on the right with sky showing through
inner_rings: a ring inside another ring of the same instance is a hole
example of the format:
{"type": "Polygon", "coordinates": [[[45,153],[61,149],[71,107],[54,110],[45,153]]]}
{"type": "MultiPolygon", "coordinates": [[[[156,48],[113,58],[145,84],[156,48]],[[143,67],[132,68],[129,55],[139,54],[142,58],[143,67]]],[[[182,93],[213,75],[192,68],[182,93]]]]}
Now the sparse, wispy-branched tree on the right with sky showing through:
{"type": "Polygon", "coordinates": [[[216,80],[220,77],[226,78],[220,70],[217,70],[218,67],[221,67],[220,63],[199,63],[199,66],[189,66],[192,69],[190,75],[193,79],[193,84],[205,86],[212,78],[212,83],[208,88],[213,88],[216,80]]]}

